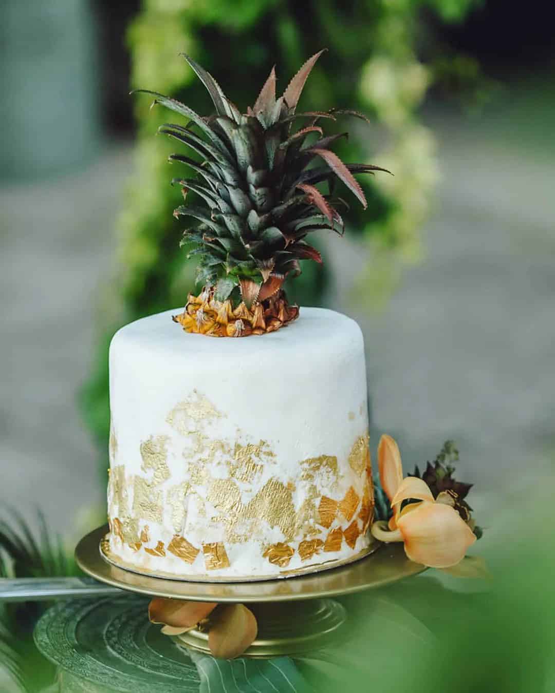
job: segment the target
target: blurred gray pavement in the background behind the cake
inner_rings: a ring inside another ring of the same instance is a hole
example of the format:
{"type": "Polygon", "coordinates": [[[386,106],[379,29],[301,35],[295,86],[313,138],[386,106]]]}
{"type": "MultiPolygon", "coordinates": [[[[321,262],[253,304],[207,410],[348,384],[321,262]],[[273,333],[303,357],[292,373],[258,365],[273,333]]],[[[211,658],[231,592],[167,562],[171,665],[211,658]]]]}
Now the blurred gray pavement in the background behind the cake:
{"type": "MultiPolygon", "coordinates": [[[[429,120],[443,180],[427,258],[384,313],[356,315],[344,291],[333,303],[364,327],[375,434],[398,437],[407,469],[456,439],[489,524],[549,473],[555,442],[555,156],[505,144],[495,121],[429,120]]],[[[38,504],[71,536],[103,502],[75,398],[130,168],[114,148],[63,182],[0,191],[0,501],[38,504]]],[[[356,243],[332,243],[330,262],[351,274],[356,243]]]]}

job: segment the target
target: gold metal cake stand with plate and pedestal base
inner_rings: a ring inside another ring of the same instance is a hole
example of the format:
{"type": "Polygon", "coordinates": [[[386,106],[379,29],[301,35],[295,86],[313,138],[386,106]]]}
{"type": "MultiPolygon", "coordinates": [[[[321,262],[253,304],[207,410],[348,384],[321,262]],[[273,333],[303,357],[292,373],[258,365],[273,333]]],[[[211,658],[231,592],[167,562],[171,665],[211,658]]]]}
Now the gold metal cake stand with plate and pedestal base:
{"type": "MultiPolygon", "coordinates": [[[[348,627],[345,607],[332,597],[382,587],[426,570],[407,559],[402,545],[385,544],[354,563],[287,578],[255,582],[194,582],[137,574],[110,563],[101,550],[108,525],[78,543],[75,557],[91,577],[122,590],[196,602],[240,602],[257,617],[257,639],[246,657],[294,655],[321,647],[348,627]]],[[[187,647],[209,652],[208,635],[179,635],[187,647]]]]}

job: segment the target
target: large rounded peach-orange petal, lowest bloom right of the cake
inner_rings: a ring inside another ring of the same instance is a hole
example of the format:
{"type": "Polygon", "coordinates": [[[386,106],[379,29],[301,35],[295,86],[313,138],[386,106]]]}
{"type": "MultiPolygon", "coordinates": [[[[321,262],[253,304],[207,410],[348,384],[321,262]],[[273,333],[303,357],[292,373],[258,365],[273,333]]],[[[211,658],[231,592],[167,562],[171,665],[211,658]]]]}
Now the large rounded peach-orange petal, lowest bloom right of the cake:
{"type": "MultiPolygon", "coordinates": [[[[456,565],[476,541],[472,529],[448,505],[424,500],[397,520],[404,551],[411,561],[430,568],[456,565]]],[[[407,506],[410,507],[410,506],[407,506]]]]}

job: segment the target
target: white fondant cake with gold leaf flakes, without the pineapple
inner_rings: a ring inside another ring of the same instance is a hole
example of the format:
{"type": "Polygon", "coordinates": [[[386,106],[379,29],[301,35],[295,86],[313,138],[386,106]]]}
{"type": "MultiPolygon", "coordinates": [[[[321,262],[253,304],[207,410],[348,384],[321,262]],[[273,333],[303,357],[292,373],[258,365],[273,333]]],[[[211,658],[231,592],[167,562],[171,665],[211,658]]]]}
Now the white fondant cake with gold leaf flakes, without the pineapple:
{"type": "Polygon", "coordinates": [[[239,339],[185,333],[178,311],[110,346],[109,552],[189,579],[333,567],[370,544],[359,326],[303,308],[239,339]]]}

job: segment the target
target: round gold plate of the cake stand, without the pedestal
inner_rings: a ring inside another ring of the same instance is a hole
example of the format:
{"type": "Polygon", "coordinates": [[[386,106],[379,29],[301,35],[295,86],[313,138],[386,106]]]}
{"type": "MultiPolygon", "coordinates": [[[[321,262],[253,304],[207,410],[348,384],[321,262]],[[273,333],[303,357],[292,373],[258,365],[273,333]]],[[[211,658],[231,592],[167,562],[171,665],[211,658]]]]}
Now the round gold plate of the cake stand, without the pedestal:
{"type": "Polygon", "coordinates": [[[107,525],[97,527],[78,543],[75,559],[90,577],[112,587],[149,597],[191,602],[291,602],[355,594],[383,587],[427,570],[404,554],[402,544],[384,544],[357,561],[309,574],[250,582],[199,582],[146,577],[109,563],[100,542],[107,525]]]}

